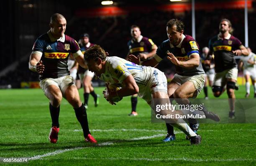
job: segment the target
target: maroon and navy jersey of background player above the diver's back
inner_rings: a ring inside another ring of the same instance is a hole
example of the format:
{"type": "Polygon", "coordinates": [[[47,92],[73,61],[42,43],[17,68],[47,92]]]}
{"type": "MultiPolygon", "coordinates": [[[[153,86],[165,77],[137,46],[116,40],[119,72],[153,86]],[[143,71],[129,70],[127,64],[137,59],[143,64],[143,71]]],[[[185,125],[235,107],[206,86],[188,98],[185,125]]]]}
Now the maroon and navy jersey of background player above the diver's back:
{"type": "Polygon", "coordinates": [[[140,53],[149,53],[152,51],[154,42],[150,38],[142,37],[141,41],[130,40],[127,44],[129,54],[138,55],[140,53]]]}

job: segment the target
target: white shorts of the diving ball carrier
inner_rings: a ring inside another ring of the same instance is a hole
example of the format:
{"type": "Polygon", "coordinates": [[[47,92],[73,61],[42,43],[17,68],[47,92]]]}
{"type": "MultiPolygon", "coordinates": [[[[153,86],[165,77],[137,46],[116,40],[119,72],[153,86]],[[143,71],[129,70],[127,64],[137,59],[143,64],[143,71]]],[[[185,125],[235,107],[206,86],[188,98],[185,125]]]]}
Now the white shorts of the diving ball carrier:
{"type": "Polygon", "coordinates": [[[150,102],[152,100],[151,94],[154,92],[164,92],[167,94],[167,79],[163,72],[159,69],[154,69],[154,74],[148,80],[148,84],[137,84],[139,87],[138,96],[150,102]]]}

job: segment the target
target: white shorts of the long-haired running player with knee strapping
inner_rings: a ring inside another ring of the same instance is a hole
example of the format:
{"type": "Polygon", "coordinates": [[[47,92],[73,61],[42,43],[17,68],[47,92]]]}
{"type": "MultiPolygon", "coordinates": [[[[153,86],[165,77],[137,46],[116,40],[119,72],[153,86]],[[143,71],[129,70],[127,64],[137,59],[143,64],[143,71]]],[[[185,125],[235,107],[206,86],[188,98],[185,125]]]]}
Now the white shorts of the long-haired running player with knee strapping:
{"type": "Polygon", "coordinates": [[[218,87],[224,87],[225,84],[227,83],[228,78],[237,80],[237,74],[238,74],[237,68],[227,69],[227,70],[224,70],[223,72],[216,73],[214,77],[213,85],[218,87]]]}

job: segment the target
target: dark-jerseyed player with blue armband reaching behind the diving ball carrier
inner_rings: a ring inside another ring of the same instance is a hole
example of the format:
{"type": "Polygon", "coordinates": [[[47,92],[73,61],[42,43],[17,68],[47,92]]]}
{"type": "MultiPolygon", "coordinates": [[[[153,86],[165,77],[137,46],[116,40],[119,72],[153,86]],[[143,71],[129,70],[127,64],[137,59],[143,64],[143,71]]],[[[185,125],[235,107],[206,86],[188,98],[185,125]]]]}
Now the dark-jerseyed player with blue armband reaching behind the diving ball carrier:
{"type": "MultiPolygon", "coordinates": [[[[188,98],[195,98],[202,90],[205,78],[199,55],[199,46],[194,38],[184,35],[184,23],[177,19],[169,20],[166,24],[168,40],[162,42],[152,59],[143,61],[145,66],[156,66],[167,56],[176,68],[176,74],[168,84],[168,96],[181,105],[191,105],[188,98]]],[[[129,56],[136,64],[140,59],[129,56]]],[[[171,101],[172,102],[172,101],[171,101]]],[[[203,109],[206,109],[205,107],[203,109]]],[[[196,119],[189,119],[189,127],[197,132],[199,124],[196,119]]],[[[175,140],[172,125],[166,124],[167,135],[164,142],[175,140]]]]}

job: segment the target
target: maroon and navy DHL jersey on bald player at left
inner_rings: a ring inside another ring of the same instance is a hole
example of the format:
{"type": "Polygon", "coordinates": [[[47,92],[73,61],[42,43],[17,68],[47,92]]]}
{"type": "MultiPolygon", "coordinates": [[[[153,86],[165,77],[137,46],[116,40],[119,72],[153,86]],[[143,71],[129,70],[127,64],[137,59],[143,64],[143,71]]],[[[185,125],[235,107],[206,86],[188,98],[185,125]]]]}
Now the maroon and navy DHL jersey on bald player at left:
{"type": "Polygon", "coordinates": [[[32,51],[42,52],[41,61],[44,64],[44,73],[39,79],[69,75],[67,65],[69,54],[76,53],[79,49],[78,43],[67,35],[62,37],[62,41],[53,41],[50,31],[38,37],[32,51]]]}

